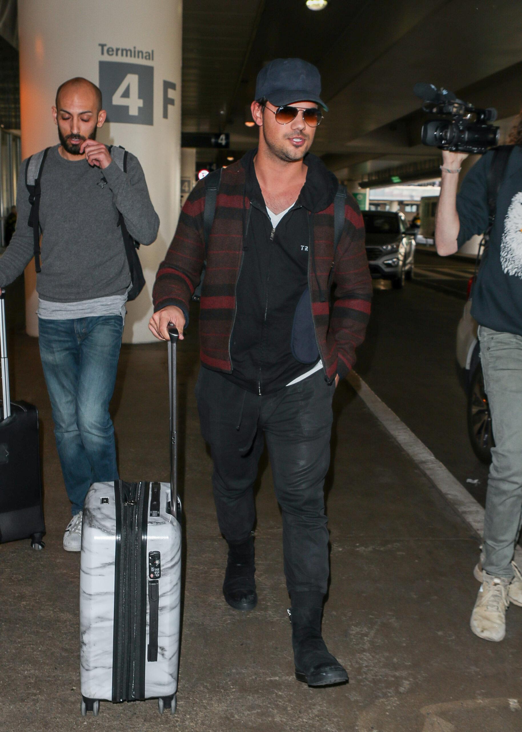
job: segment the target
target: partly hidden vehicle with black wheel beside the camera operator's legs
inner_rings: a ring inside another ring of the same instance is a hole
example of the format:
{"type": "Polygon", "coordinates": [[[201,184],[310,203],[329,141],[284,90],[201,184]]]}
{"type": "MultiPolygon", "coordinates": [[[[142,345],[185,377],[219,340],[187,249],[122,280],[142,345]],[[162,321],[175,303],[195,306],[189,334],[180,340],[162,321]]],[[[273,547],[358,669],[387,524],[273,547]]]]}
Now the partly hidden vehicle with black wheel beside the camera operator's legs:
{"type": "Polygon", "coordinates": [[[468,284],[468,300],[457,326],[457,364],[467,395],[467,423],[473,452],[483,463],[491,462],[493,427],[488,397],[484,390],[484,377],[480,363],[480,344],[477,337],[477,321],[472,317],[470,297],[472,280],[468,284]]]}

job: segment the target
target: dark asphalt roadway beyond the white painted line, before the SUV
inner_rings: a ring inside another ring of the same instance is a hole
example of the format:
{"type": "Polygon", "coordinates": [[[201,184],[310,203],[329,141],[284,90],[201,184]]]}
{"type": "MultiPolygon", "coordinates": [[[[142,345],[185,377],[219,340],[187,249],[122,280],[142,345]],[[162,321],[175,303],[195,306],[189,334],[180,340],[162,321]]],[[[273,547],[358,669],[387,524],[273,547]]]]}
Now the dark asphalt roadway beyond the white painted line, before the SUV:
{"type": "MultiPolygon", "coordinates": [[[[423,264],[423,260],[435,257],[423,253],[419,259],[423,264]]],[[[443,261],[446,264],[449,258],[443,261]]],[[[398,291],[383,280],[374,284],[371,319],[355,367],[484,505],[489,467],[480,463],[469,443],[466,392],[458,378],[455,356],[464,300],[427,288],[415,279],[398,291]]]]}

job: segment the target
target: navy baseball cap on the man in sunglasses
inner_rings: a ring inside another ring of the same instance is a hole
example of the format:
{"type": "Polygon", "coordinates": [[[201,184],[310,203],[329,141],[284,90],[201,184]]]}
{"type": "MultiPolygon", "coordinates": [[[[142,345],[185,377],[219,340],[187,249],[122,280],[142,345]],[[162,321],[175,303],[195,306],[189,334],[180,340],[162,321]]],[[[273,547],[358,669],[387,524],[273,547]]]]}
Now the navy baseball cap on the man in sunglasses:
{"type": "Polygon", "coordinates": [[[328,112],[320,93],[319,70],[303,59],[274,59],[257,75],[255,98],[266,97],[276,107],[292,102],[317,102],[328,112]]]}

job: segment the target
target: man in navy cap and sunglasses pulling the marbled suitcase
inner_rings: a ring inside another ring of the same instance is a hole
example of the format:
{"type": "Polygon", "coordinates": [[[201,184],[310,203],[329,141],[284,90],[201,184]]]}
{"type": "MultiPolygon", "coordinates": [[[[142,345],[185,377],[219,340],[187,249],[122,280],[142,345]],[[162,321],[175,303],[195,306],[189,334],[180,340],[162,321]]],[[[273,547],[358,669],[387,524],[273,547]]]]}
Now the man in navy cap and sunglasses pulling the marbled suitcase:
{"type": "Polygon", "coordinates": [[[251,104],[258,147],[189,195],[156,275],[150,324],[165,340],[169,321],[183,331],[206,259],[196,397],[228,544],[223,594],[236,610],[257,605],[254,482],[266,440],[283,518],[295,675],[312,687],[348,680],[321,634],[329,575],[323,486],[333,392],[355,363],[371,301],[358,205],[309,154],[328,110],[320,94],[319,71],[301,59],[260,71],[251,104]]]}

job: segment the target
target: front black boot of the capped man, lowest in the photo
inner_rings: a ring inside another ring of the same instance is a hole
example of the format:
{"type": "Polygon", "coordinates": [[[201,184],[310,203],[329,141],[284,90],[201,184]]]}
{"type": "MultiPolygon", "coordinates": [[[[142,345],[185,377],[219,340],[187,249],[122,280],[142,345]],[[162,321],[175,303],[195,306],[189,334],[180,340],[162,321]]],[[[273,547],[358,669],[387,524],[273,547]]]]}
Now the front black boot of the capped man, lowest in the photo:
{"type": "Polygon", "coordinates": [[[322,608],[292,608],[292,646],[295,678],[311,687],[343,684],[348,674],[336,657],[328,653],[321,635],[322,608]]]}

